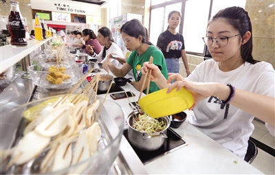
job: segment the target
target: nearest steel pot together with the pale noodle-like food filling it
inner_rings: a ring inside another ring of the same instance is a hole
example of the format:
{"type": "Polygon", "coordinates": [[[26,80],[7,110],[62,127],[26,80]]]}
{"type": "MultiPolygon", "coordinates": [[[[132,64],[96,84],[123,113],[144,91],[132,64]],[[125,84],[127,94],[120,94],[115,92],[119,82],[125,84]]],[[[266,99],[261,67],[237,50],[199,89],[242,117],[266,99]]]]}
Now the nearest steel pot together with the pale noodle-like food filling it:
{"type": "Polygon", "coordinates": [[[135,148],[153,151],[162,147],[170,126],[168,117],[153,118],[146,113],[131,113],[127,118],[129,142],[135,148]]]}

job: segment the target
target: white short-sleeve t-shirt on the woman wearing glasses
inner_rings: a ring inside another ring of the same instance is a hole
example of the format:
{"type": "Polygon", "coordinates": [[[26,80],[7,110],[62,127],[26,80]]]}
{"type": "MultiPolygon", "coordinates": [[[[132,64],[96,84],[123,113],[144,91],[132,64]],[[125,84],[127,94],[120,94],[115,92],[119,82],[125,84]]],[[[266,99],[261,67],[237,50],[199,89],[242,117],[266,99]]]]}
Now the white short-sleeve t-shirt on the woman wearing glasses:
{"type": "MultiPolygon", "coordinates": [[[[219,69],[219,62],[210,59],[198,65],[187,80],[230,83],[236,89],[274,97],[274,69],[267,62],[257,62],[254,65],[245,62],[237,69],[223,72],[219,69]]],[[[223,104],[214,96],[199,102],[193,111],[194,115],[188,117],[188,123],[197,126],[201,132],[244,158],[248,139],[254,130],[254,116],[231,104],[223,104]]]]}

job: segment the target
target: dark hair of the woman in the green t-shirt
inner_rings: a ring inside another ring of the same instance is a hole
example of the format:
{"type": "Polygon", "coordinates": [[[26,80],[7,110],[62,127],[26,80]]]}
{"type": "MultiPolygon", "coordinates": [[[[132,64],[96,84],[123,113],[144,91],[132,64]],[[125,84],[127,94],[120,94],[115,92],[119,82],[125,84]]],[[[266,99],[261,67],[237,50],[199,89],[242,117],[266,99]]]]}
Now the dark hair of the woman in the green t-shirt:
{"type": "Polygon", "coordinates": [[[148,32],[146,31],[146,28],[137,19],[132,19],[131,21],[124,23],[124,25],[122,25],[122,27],[120,28],[120,34],[122,34],[123,32],[135,38],[138,38],[138,36],[142,36],[142,43],[153,45],[148,40],[148,32]]]}

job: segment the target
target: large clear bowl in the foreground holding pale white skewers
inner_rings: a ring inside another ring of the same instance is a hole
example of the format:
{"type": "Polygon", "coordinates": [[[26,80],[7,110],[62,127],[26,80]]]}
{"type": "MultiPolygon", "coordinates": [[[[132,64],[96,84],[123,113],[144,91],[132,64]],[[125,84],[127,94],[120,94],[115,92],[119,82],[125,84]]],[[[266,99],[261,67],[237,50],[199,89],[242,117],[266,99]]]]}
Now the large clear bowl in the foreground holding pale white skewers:
{"type": "MultiPolygon", "coordinates": [[[[56,97],[62,97],[56,96],[56,97]]],[[[28,110],[34,106],[37,106],[46,100],[53,99],[55,97],[47,97],[42,100],[37,100],[14,108],[8,113],[4,113],[1,116],[0,130],[1,130],[1,150],[7,150],[13,148],[15,145],[20,146],[20,141],[23,137],[23,130],[28,124],[28,120],[23,117],[25,110],[28,110]]],[[[94,100],[94,98],[92,98],[94,100]]],[[[102,97],[98,97],[100,100],[100,106],[104,100],[102,97]]],[[[100,106],[98,109],[100,109],[100,106]]],[[[98,110],[96,110],[96,114],[98,110]]],[[[95,154],[92,154],[88,159],[76,163],[75,165],[69,165],[62,170],[56,170],[55,172],[47,172],[46,174],[74,174],[74,169],[85,165],[86,168],[80,174],[107,174],[109,172],[113,161],[118,156],[120,141],[124,130],[124,121],[126,119],[124,110],[117,103],[105,100],[100,115],[98,117],[98,123],[101,128],[101,135],[98,141],[98,148],[95,154]]],[[[81,132],[81,131],[80,131],[81,132]]],[[[34,144],[37,144],[34,141],[34,144]]],[[[41,174],[40,165],[41,161],[45,159],[48,153],[49,147],[45,148],[41,154],[34,159],[24,163],[23,165],[12,165],[8,170],[6,166],[8,162],[1,163],[1,174],[41,174]]],[[[75,146],[72,144],[72,156],[75,154],[75,146]]]]}

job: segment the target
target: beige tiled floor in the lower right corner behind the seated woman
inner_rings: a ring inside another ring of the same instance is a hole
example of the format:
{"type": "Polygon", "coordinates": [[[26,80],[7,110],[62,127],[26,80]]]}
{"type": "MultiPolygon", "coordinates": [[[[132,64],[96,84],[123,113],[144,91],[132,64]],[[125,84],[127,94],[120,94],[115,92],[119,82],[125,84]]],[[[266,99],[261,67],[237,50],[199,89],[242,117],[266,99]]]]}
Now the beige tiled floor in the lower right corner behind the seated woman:
{"type": "MultiPolygon", "coordinates": [[[[270,135],[270,132],[268,132],[267,128],[265,128],[265,124],[256,120],[254,120],[252,123],[254,124],[255,129],[251,137],[275,149],[275,137],[270,135]]],[[[275,174],[275,157],[259,148],[258,155],[251,163],[251,165],[256,167],[264,174],[275,174]]]]}

